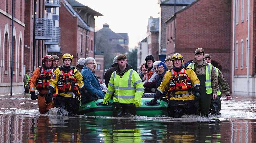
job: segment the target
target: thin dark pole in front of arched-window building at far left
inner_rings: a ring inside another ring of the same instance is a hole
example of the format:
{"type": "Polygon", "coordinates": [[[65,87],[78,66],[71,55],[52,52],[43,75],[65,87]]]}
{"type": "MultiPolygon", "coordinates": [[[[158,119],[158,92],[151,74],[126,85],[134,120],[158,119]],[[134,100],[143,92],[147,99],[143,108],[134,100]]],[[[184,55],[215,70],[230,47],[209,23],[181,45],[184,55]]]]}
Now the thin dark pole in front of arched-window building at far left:
{"type": "Polygon", "coordinates": [[[11,90],[10,96],[13,94],[13,20],[14,20],[14,0],[12,0],[12,52],[11,52],[11,90]]]}

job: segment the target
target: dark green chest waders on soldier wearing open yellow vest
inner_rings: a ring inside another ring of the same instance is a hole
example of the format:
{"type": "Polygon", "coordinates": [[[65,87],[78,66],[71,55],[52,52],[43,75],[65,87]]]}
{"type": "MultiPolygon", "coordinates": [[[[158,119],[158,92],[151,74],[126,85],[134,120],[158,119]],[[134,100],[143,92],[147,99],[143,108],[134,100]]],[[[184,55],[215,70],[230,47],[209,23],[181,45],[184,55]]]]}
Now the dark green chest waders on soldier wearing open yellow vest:
{"type": "Polygon", "coordinates": [[[200,100],[201,115],[208,117],[210,104],[212,100],[212,94],[206,93],[206,87],[205,87],[206,75],[197,75],[197,78],[200,80],[200,86],[201,86],[201,100],[200,100]]]}

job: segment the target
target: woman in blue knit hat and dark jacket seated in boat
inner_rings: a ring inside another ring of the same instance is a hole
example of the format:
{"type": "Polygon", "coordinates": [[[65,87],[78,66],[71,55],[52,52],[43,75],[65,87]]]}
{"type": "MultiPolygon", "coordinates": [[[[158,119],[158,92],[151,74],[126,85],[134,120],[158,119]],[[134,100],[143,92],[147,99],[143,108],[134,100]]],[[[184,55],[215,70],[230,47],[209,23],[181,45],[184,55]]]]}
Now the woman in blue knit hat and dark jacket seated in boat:
{"type": "MultiPolygon", "coordinates": [[[[160,84],[163,80],[163,77],[164,77],[165,73],[168,71],[168,69],[167,69],[166,64],[164,62],[160,62],[160,63],[157,64],[157,68],[155,69],[155,71],[158,73],[155,80],[152,81],[152,82],[146,82],[146,83],[144,83],[143,86],[145,88],[154,89],[154,91],[156,92],[156,89],[158,88],[158,86],[160,86],[160,84]]],[[[154,93],[144,93],[142,95],[142,98],[154,98],[155,92],[154,93]]],[[[165,92],[165,94],[166,93],[167,93],[167,91],[165,92]]],[[[164,94],[163,94],[163,96],[164,96],[164,94]]]]}

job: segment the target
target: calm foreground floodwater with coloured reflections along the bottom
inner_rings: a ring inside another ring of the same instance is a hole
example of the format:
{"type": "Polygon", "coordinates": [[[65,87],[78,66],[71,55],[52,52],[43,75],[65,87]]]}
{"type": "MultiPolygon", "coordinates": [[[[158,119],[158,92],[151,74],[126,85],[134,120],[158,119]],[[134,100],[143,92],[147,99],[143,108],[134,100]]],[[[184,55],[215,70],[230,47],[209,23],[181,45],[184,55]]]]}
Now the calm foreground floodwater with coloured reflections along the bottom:
{"type": "Polygon", "coordinates": [[[1,115],[0,142],[255,142],[255,119],[144,120],[1,115]]]}

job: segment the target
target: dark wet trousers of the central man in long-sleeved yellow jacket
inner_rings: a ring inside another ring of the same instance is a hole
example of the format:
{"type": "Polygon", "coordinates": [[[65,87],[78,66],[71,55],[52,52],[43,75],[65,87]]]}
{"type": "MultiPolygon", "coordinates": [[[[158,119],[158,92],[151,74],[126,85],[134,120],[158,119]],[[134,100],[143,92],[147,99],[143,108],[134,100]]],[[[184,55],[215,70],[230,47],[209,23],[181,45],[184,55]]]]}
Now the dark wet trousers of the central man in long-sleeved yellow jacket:
{"type": "Polygon", "coordinates": [[[136,115],[136,107],[133,103],[113,102],[113,117],[136,115]]]}

